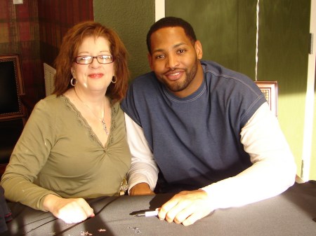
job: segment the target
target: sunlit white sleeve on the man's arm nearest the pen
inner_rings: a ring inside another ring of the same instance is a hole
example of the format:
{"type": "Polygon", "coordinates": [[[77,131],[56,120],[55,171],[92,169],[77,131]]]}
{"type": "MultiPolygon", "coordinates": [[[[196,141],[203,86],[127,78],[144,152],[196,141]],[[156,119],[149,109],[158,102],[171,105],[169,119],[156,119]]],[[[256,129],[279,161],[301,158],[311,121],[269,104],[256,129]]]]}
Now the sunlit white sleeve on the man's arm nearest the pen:
{"type": "Polygon", "coordinates": [[[241,142],[253,165],[236,176],[202,188],[208,193],[213,209],[265,200],[294,184],[294,156],[267,103],[244,125],[241,142]]]}

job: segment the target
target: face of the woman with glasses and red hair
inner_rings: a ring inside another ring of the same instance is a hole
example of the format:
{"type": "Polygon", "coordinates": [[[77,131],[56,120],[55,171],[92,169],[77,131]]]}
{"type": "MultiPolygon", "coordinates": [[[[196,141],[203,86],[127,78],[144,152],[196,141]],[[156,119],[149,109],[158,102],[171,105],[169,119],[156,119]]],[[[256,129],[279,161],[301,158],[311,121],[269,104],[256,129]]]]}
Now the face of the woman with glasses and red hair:
{"type": "MultiPolygon", "coordinates": [[[[79,56],[110,55],[110,42],[103,37],[88,36],[79,46],[79,56]]],[[[98,59],[99,60],[99,59],[98,59]]],[[[93,58],[91,64],[72,64],[72,76],[77,78],[76,88],[86,92],[105,92],[114,76],[114,63],[101,64],[93,58]]],[[[100,60],[99,60],[100,61],[100,60]]]]}

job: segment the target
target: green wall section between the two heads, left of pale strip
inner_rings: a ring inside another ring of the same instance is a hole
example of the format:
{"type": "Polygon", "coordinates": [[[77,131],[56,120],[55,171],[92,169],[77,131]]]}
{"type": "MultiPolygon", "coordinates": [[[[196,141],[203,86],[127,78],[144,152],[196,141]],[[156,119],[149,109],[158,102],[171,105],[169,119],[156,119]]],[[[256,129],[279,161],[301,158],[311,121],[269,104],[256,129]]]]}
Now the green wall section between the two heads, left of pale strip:
{"type": "Polygon", "coordinates": [[[154,23],[154,0],[94,0],[94,20],[112,27],[129,51],[131,78],[150,71],[146,34],[154,23]]]}

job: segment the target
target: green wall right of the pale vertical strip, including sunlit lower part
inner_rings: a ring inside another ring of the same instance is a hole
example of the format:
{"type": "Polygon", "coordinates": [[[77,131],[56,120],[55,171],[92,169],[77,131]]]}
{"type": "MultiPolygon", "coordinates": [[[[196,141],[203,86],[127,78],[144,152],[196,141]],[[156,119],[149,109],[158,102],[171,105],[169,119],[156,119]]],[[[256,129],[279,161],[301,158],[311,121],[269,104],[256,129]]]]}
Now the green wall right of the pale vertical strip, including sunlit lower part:
{"type": "MultiPolygon", "coordinates": [[[[255,80],[256,4],[256,0],[166,0],[166,16],[192,24],[202,42],[204,60],[214,60],[255,80]]],[[[279,123],[296,158],[299,176],[309,22],[310,0],[260,1],[257,79],[278,81],[279,123]]],[[[315,128],[314,118],[314,149],[315,128]]],[[[315,162],[312,150],[310,179],[316,179],[315,162]]]]}

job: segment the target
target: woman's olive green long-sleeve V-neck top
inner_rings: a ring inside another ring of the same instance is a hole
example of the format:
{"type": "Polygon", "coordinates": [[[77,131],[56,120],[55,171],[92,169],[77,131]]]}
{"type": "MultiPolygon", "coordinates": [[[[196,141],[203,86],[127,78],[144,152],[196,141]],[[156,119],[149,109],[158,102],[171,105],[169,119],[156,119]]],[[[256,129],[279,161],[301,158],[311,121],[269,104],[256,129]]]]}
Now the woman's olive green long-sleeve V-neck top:
{"type": "Polygon", "coordinates": [[[65,96],[37,103],[1,178],[5,196],[44,211],[44,196],[93,198],[119,195],[131,165],[124,113],[112,105],[111,129],[103,146],[65,96]]]}

